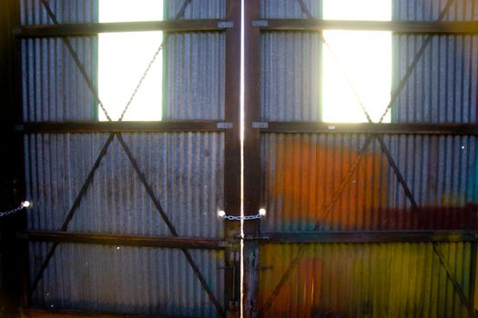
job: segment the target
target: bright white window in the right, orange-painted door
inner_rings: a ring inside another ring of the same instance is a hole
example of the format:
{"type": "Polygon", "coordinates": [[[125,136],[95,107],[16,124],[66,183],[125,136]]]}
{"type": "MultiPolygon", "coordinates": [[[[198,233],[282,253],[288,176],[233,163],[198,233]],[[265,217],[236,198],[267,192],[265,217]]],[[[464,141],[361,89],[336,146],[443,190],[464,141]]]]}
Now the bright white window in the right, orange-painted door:
{"type": "MultiPolygon", "coordinates": [[[[390,0],[323,0],[322,9],[325,20],[390,21],[392,17],[390,0]]],[[[322,121],[367,122],[358,95],[371,120],[378,122],[390,102],[392,32],[327,30],[323,35],[331,50],[323,45],[322,121]]],[[[383,122],[390,122],[390,117],[389,112],[383,122]]]]}

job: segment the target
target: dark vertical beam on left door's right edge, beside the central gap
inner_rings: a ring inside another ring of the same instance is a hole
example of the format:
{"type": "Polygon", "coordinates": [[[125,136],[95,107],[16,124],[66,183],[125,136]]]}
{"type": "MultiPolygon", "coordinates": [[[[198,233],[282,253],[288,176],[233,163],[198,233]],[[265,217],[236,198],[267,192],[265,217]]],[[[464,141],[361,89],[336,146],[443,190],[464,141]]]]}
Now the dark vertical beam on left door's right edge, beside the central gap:
{"type": "MultiPolygon", "coordinates": [[[[224,204],[227,214],[240,215],[240,0],[226,2],[226,101],[225,121],[232,129],[225,133],[224,204]]],[[[224,221],[226,239],[234,241],[240,234],[240,223],[224,221]]],[[[228,316],[239,314],[240,266],[239,243],[226,250],[224,268],[224,308],[228,316]]]]}

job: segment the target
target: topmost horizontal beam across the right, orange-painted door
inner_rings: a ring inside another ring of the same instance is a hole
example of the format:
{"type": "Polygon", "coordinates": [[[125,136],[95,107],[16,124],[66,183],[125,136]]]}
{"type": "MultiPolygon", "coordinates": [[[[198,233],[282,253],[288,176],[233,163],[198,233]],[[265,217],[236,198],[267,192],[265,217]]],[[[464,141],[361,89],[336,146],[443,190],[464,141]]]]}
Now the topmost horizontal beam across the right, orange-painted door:
{"type": "Polygon", "coordinates": [[[264,31],[391,31],[406,34],[477,34],[478,22],[344,21],[320,19],[268,19],[253,21],[264,31]]]}

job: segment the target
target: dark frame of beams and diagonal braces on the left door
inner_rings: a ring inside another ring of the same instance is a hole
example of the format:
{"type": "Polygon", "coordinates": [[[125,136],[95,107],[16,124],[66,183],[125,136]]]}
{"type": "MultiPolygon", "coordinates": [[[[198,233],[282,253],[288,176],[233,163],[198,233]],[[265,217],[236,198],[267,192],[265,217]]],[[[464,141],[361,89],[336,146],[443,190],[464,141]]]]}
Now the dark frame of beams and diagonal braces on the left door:
{"type": "MultiPolygon", "coordinates": [[[[36,35],[52,35],[55,33],[63,33],[62,35],[69,35],[69,32],[79,32],[78,25],[74,25],[73,27],[71,25],[67,25],[66,27],[63,27],[62,25],[59,25],[55,13],[52,11],[51,7],[49,6],[47,0],[40,0],[41,3],[43,4],[44,8],[46,9],[47,15],[50,17],[50,19],[54,22],[55,25],[53,26],[44,26],[43,28],[40,29],[28,29],[25,28],[22,32],[23,35],[25,36],[36,36],[36,35]],[[28,33],[29,32],[29,33],[28,33]],[[40,34],[37,34],[37,33],[40,34]]],[[[177,18],[182,16],[186,10],[186,7],[190,4],[191,0],[185,0],[181,9],[179,10],[179,13],[177,15],[177,18]]],[[[231,1],[228,2],[227,6],[227,18],[231,18],[235,20],[235,23],[240,22],[240,5],[239,1],[231,1]]],[[[240,31],[239,28],[232,29],[229,23],[224,25],[224,22],[222,21],[208,21],[204,23],[199,23],[198,21],[192,21],[191,23],[185,22],[185,21],[168,21],[164,22],[161,24],[156,24],[156,25],[147,25],[147,24],[139,24],[136,27],[139,28],[150,28],[150,27],[156,27],[159,29],[174,29],[174,31],[178,31],[175,28],[181,28],[180,31],[191,31],[192,27],[194,25],[198,26],[199,31],[205,31],[205,30],[215,30],[215,31],[223,31],[226,29],[227,33],[227,59],[229,61],[229,66],[227,66],[226,70],[226,76],[227,78],[230,79],[230,77],[234,76],[235,74],[239,74],[237,70],[239,70],[239,59],[236,61],[235,60],[235,55],[233,55],[235,52],[239,52],[239,35],[240,31]],[[192,23],[192,26],[191,26],[192,23]],[[222,25],[221,25],[222,23],[222,25]],[[211,24],[216,24],[211,25],[211,24]],[[214,26],[214,27],[213,27],[214,26]],[[230,31],[229,31],[230,30],[230,31]]],[[[85,25],[81,25],[85,26],[85,25]]],[[[124,31],[126,28],[131,27],[132,24],[111,24],[111,25],[93,25],[96,26],[98,29],[87,29],[86,32],[97,32],[101,30],[101,27],[112,27],[112,28],[117,28],[117,31],[121,29],[124,31]]],[[[20,34],[22,35],[22,34],[20,34]]],[[[97,102],[99,104],[102,104],[98,93],[97,89],[92,83],[91,79],[88,77],[86,74],[86,69],[85,66],[82,65],[80,62],[78,56],[76,55],[76,52],[73,48],[73,46],[70,44],[68,39],[66,37],[62,37],[62,40],[64,44],[66,45],[66,48],[68,49],[70,55],[73,57],[76,67],[83,76],[89,91],[97,102]]],[[[58,243],[63,243],[63,242],[83,242],[83,243],[112,243],[112,242],[122,242],[122,243],[132,243],[136,245],[155,245],[155,246],[166,246],[168,248],[179,248],[185,258],[187,259],[189,265],[191,266],[193,272],[196,274],[198,277],[199,282],[201,283],[201,286],[203,290],[208,294],[208,299],[213,305],[215,306],[217,312],[219,313],[219,316],[225,317],[226,312],[223,308],[223,306],[219,303],[218,299],[212,292],[212,290],[208,286],[208,282],[200,273],[200,270],[198,268],[198,265],[194,262],[191,254],[188,251],[188,248],[213,248],[213,249],[222,249],[222,248],[229,248],[228,244],[220,243],[219,241],[214,242],[206,242],[205,240],[201,239],[187,239],[187,238],[181,238],[178,235],[178,232],[176,231],[174,225],[170,222],[168,218],[168,214],[164,211],[162,208],[158,197],[154,194],[151,186],[147,183],[147,179],[145,174],[141,171],[139,165],[137,164],[137,161],[134,157],[134,155],[131,153],[130,148],[128,147],[127,143],[122,137],[121,132],[129,132],[129,131],[226,131],[229,130],[231,133],[226,134],[226,141],[227,141],[227,146],[226,146],[226,157],[230,156],[237,156],[239,157],[240,154],[240,149],[238,147],[239,144],[239,107],[236,107],[236,104],[239,104],[239,78],[236,81],[229,81],[226,85],[227,88],[227,101],[226,101],[226,120],[230,120],[232,122],[236,122],[237,124],[233,123],[223,123],[223,122],[217,122],[217,121],[183,121],[183,122],[163,122],[163,123],[149,123],[149,124],[131,124],[131,123],[26,123],[26,124],[21,124],[17,127],[18,130],[24,131],[26,133],[33,133],[33,132],[38,132],[38,131],[48,131],[51,132],[52,130],[55,131],[56,133],[64,133],[64,132],[71,132],[71,130],[76,130],[76,132],[84,132],[84,131],[100,131],[100,132],[109,132],[109,136],[107,138],[107,142],[104,144],[103,148],[101,149],[100,153],[97,156],[97,159],[95,161],[95,164],[91,168],[89,174],[86,177],[86,181],[81,187],[81,190],[79,193],[76,195],[76,199],[74,204],[71,206],[70,210],[66,214],[66,218],[63,222],[63,224],[60,227],[60,232],[59,233],[44,233],[44,234],[38,234],[38,233],[30,233],[27,236],[30,237],[33,240],[47,240],[50,242],[53,242],[52,247],[49,249],[48,253],[46,253],[46,257],[39,269],[39,271],[36,273],[36,277],[33,280],[33,283],[30,284],[29,286],[29,292],[28,298],[31,298],[32,293],[35,291],[37,284],[41,280],[43,273],[45,273],[45,270],[48,266],[48,263],[54,256],[56,252],[56,247],[58,243]],[[228,84],[229,83],[229,84],[228,84]],[[145,239],[145,238],[138,238],[138,237],[112,237],[111,235],[102,235],[101,237],[95,236],[92,237],[89,234],[71,234],[66,232],[68,228],[68,224],[74,217],[74,214],[76,213],[76,209],[79,206],[82,197],[86,194],[86,189],[91,184],[96,172],[97,168],[99,167],[99,164],[101,163],[102,159],[105,157],[107,154],[107,149],[108,146],[112,143],[112,141],[115,139],[121,144],[123,150],[127,154],[128,161],[130,164],[132,164],[133,168],[135,169],[135,172],[137,176],[139,177],[141,183],[145,187],[148,196],[151,198],[153,201],[153,204],[155,204],[158,213],[161,215],[163,221],[167,224],[169,232],[172,234],[172,238],[156,238],[154,239],[145,239]],[[237,139],[237,141],[236,141],[237,139]],[[228,142],[230,146],[228,146],[228,142]],[[229,151],[228,151],[229,149],[229,151]]],[[[110,120],[109,116],[107,116],[108,119],[110,120]]],[[[227,131],[227,133],[229,133],[227,131]]],[[[228,163],[226,161],[226,163],[228,163]]],[[[238,166],[234,166],[234,164],[237,164],[236,162],[229,163],[229,169],[239,171],[238,166]]],[[[234,174],[231,174],[231,176],[235,177],[234,174]]],[[[231,178],[229,177],[229,180],[225,181],[225,184],[228,185],[233,185],[234,183],[238,184],[239,179],[236,178],[231,178]]],[[[235,186],[234,189],[239,190],[239,185],[235,186]]],[[[226,192],[225,194],[226,197],[226,202],[233,205],[233,206],[239,206],[240,204],[240,190],[236,192],[226,192]]],[[[239,209],[237,210],[237,213],[239,213],[239,209]]],[[[229,236],[233,237],[234,233],[238,232],[237,225],[229,224],[227,225],[227,228],[229,229],[229,236]]],[[[228,231],[227,231],[227,237],[228,237],[228,231]]],[[[226,260],[227,263],[235,263],[235,260],[226,260]]],[[[239,266],[229,266],[232,267],[233,269],[236,268],[236,271],[239,270],[239,266]]],[[[237,274],[230,274],[227,273],[228,271],[225,271],[225,278],[227,282],[225,283],[225,286],[229,286],[231,283],[234,285],[235,282],[230,282],[231,279],[239,279],[239,275],[237,274]]],[[[239,286],[239,284],[236,284],[239,286]]],[[[239,297],[239,293],[234,293],[236,294],[236,297],[239,297]]],[[[229,300],[228,300],[229,301],[229,300]]],[[[30,303],[27,302],[26,305],[30,303]]],[[[234,304],[233,304],[234,307],[234,304]]],[[[229,308],[230,309],[230,308],[229,308]]]]}

